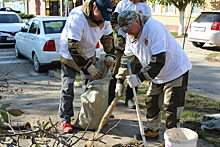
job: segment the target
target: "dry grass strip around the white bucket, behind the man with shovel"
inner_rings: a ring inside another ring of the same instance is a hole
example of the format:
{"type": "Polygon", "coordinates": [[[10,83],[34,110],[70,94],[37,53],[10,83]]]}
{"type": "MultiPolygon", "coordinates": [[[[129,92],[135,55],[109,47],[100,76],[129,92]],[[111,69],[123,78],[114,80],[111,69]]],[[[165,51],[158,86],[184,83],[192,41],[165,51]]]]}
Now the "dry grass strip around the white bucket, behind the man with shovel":
{"type": "MultiPolygon", "coordinates": [[[[138,100],[142,111],[146,111],[145,99],[148,82],[144,82],[139,86],[138,100]]],[[[181,116],[181,127],[190,128],[198,133],[199,138],[206,142],[220,147],[220,132],[201,130],[200,122],[206,114],[216,114],[220,112],[220,102],[209,100],[208,98],[188,93],[186,98],[185,109],[181,116]]],[[[164,111],[162,111],[162,119],[166,119],[164,111]]]]}

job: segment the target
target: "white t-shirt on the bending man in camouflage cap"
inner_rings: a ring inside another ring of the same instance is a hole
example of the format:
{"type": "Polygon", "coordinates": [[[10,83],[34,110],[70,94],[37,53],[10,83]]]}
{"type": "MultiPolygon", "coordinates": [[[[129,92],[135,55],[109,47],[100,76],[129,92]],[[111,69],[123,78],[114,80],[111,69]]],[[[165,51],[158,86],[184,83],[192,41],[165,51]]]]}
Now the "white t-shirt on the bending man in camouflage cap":
{"type": "Polygon", "coordinates": [[[166,52],[165,65],[152,82],[162,84],[172,81],[192,68],[185,51],[167,28],[153,18],[145,23],[138,41],[131,43],[126,37],[125,55],[135,55],[146,67],[152,55],[166,52]]]}

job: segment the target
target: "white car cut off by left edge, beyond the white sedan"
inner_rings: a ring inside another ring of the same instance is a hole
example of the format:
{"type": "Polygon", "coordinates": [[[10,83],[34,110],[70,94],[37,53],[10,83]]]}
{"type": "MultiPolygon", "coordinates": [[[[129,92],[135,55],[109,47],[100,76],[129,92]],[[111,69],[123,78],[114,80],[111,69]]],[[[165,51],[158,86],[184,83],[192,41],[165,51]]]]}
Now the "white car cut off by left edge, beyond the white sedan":
{"type": "Polygon", "coordinates": [[[14,35],[25,23],[14,12],[0,12],[0,45],[13,45],[14,35]]]}

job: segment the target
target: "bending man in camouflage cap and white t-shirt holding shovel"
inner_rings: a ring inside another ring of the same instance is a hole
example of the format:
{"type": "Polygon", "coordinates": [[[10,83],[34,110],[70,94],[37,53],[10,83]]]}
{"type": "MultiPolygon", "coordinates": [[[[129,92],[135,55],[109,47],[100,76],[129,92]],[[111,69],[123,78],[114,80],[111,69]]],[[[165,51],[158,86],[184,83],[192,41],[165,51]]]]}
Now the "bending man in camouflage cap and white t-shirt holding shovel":
{"type": "MultiPolygon", "coordinates": [[[[135,55],[142,69],[138,74],[127,76],[131,87],[150,81],[147,91],[147,138],[159,137],[162,103],[167,116],[166,127],[179,125],[187,91],[188,72],[192,65],[167,28],[152,17],[135,11],[123,11],[118,17],[119,29],[128,33],[125,55],[135,55]]],[[[117,75],[116,78],[121,78],[117,75]]],[[[125,73],[124,73],[125,74],[125,73]]],[[[140,134],[136,135],[141,139],[140,134]]]]}

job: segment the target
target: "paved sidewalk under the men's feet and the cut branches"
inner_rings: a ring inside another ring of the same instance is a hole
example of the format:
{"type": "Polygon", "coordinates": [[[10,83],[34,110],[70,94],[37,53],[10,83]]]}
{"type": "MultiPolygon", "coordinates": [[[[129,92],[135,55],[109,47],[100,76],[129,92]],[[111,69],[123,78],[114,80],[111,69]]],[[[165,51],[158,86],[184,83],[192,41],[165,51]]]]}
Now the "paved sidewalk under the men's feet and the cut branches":
{"type": "MultiPolygon", "coordinates": [[[[47,122],[49,117],[53,123],[60,122],[58,117],[58,105],[60,95],[61,81],[46,75],[23,77],[28,84],[21,84],[20,81],[10,82],[10,90],[2,95],[7,97],[2,99],[4,103],[10,103],[16,109],[21,109],[25,113],[20,117],[14,117],[14,122],[29,122],[32,126],[37,126],[37,121],[47,122]],[[15,93],[11,92],[16,90],[15,93]],[[22,89],[22,91],[21,91],[22,89]]],[[[74,99],[74,111],[75,116],[80,111],[81,101],[81,85],[76,83],[75,85],[75,99],[74,99]]],[[[119,101],[115,110],[113,111],[114,119],[110,119],[109,122],[99,133],[98,137],[103,135],[109,128],[113,128],[115,124],[120,123],[114,127],[114,129],[107,135],[104,135],[100,141],[94,142],[95,147],[120,147],[123,144],[135,142],[133,136],[139,132],[138,121],[136,117],[136,111],[134,109],[128,109],[125,107],[124,102],[119,101]]],[[[145,121],[145,115],[142,113],[142,120],[145,121]]],[[[146,122],[145,122],[146,123],[146,122]]],[[[165,125],[162,123],[160,130],[159,140],[147,141],[148,147],[159,147],[163,140],[163,133],[165,131],[165,125]]],[[[75,129],[73,134],[66,134],[66,137],[73,136],[72,142],[75,142],[78,138],[82,137],[84,131],[75,129]]],[[[85,139],[90,138],[93,135],[93,131],[86,132],[83,139],[81,139],[74,147],[83,147],[86,143],[85,139]]],[[[22,139],[21,139],[22,140],[22,139]]],[[[52,140],[52,138],[50,138],[52,140]]],[[[52,146],[51,141],[49,146],[52,146]]],[[[21,147],[31,145],[30,139],[23,139],[20,143],[21,147]]],[[[1,146],[1,145],[0,145],[1,146]]],[[[212,147],[206,144],[202,140],[198,141],[198,147],[212,147]]]]}

